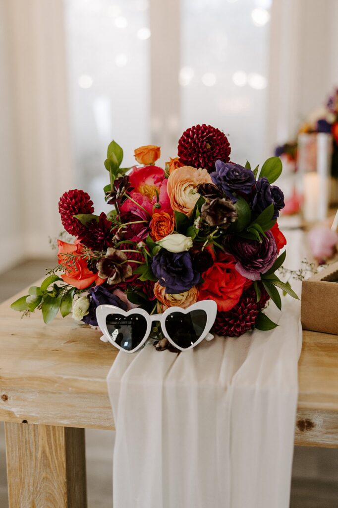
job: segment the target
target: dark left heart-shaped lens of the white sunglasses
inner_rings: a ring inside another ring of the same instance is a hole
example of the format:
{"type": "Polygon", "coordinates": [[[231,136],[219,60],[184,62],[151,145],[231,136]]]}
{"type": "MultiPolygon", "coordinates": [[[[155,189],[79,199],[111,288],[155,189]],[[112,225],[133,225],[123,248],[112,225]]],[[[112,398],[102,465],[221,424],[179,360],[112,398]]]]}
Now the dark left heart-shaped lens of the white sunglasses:
{"type": "Polygon", "coordinates": [[[142,342],[147,331],[146,318],[141,314],[128,316],[109,314],[106,323],[113,341],[126,351],[134,350],[142,342]]]}

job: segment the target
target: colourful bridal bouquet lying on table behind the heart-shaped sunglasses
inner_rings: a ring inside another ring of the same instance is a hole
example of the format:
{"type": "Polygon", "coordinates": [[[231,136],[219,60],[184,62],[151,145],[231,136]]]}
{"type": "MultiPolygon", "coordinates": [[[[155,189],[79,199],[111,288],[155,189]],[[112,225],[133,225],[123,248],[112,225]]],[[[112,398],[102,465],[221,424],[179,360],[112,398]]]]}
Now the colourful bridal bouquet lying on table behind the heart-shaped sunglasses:
{"type": "Polygon", "coordinates": [[[61,196],[70,241],[57,240],[58,265],[12,308],[41,309],[45,323],[73,312],[97,326],[100,304],[160,313],[210,299],[218,308],[214,333],[277,326],[263,312],[267,301],[281,309],[278,289],[297,298],[275,273],[286,244],[277,223],[284,196],[273,185],[280,159],[269,158],[260,171],[230,162],[227,137],[206,124],[183,133],[164,169],[155,165],[159,147],[134,154],[138,165],[122,168],[122,148],[115,141],[108,147],[108,213],[95,214],[83,190],[61,196]]]}

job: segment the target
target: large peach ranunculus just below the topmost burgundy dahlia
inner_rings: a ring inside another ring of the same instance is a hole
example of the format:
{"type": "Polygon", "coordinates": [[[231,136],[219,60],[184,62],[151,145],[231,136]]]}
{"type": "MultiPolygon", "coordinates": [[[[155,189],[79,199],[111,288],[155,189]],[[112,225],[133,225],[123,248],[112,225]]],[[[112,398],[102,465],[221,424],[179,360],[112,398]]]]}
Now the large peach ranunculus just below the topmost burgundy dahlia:
{"type": "Polygon", "coordinates": [[[191,214],[200,196],[196,191],[199,183],[212,183],[206,169],[182,166],[169,175],[166,189],[173,210],[191,214]]]}

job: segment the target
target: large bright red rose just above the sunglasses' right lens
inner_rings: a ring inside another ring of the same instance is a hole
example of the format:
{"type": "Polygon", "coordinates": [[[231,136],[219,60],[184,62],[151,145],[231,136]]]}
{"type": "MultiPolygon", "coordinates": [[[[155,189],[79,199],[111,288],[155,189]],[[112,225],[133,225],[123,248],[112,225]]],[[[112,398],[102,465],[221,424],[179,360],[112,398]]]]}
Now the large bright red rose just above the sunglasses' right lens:
{"type": "Polygon", "coordinates": [[[219,311],[232,309],[239,302],[247,282],[235,268],[232,256],[221,254],[206,272],[204,282],[199,286],[198,300],[214,300],[219,311]]]}

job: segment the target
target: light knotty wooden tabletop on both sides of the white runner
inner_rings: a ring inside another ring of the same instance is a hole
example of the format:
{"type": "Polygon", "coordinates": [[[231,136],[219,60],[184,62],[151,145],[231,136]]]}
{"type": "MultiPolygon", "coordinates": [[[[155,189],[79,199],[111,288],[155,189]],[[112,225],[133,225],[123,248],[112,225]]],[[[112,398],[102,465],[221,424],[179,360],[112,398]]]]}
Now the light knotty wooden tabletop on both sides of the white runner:
{"type": "MultiPolygon", "coordinates": [[[[0,305],[0,420],[114,428],[106,377],[117,350],[71,317],[47,326],[9,305],[0,305]]],[[[303,332],[298,377],[296,444],[338,447],[338,336],[303,332]]]]}

